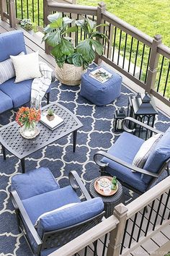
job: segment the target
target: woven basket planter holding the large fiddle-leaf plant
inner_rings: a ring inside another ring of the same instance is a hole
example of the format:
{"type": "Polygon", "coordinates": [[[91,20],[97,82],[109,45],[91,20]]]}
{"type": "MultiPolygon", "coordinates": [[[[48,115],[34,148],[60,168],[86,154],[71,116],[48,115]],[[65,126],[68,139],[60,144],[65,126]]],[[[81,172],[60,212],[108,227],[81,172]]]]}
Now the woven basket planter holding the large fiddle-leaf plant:
{"type": "Polygon", "coordinates": [[[64,63],[62,68],[56,64],[55,72],[57,79],[64,85],[79,85],[81,74],[84,74],[86,70],[82,66],[76,67],[73,64],[64,63]]]}

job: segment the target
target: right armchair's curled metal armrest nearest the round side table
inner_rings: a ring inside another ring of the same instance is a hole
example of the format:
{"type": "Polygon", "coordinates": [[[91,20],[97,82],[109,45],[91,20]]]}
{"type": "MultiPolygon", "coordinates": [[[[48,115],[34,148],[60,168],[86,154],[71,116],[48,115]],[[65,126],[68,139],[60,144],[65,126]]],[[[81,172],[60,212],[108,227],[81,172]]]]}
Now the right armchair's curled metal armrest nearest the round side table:
{"type": "Polygon", "coordinates": [[[158,177],[158,174],[153,174],[151,171],[146,171],[142,168],[138,168],[137,166],[133,166],[132,164],[126,163],[126,162],[120,160],[120,158],[116,158],[115,156],[110,155],[109,153],[106,153],[104,151],[97,151],[97,153],[94,154],[94,162],[97,163],[98,166],[101,166],[101,167],[107,166],[107,163],[102,163],[101,161],[99,161],[99,155],[102,155],[105,158],[109,158],[110,160],[115,161],[116,163],[119,163],[121,166],[130,168],[133,171],[139,172],[140,174],[146,174],[149,176],[153,176],[154,178],[158,177]]]}

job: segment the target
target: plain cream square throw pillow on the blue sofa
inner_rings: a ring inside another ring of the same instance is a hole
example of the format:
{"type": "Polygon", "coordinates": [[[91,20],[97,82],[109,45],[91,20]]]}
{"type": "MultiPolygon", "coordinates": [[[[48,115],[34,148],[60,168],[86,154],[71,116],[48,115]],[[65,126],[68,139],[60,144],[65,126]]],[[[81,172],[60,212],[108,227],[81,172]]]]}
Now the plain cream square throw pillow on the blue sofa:
{"type": "Polygon", "coordinates": [[[38,52],[24,56],[10,56],[15,69],[15,82],[41,77],[38,52]]]}

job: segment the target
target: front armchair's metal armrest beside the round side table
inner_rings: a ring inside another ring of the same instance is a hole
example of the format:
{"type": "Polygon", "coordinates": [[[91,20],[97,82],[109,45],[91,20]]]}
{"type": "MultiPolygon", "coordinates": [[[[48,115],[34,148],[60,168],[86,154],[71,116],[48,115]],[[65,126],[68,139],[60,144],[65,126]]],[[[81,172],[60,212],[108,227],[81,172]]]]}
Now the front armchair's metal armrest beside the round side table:
{"type": "Polygon", "coordinates": [[[81,189],[81,192],[84,194],[86,200],[91,199],[89,192],[86,190],[86,187],[84,186],[83,182],[81,182],[81,179],[76,171],[70,171],[70,173],[68,174],[68,178],[71,187],[73,187],[74,190],[81,189]]]}

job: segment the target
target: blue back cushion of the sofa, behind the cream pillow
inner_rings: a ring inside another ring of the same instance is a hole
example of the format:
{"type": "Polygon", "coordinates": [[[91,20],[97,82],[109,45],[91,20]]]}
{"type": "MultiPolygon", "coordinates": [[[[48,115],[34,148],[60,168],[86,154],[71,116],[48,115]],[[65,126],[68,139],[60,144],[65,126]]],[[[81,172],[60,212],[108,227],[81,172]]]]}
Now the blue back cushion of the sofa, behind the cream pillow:
{"type": "Polygon", "coordinates": [[[0,34],[0,61],[9,59],[9,55],[18,55],[24,51],[27,54],[22,31],[14,30],[0,34]]]}

